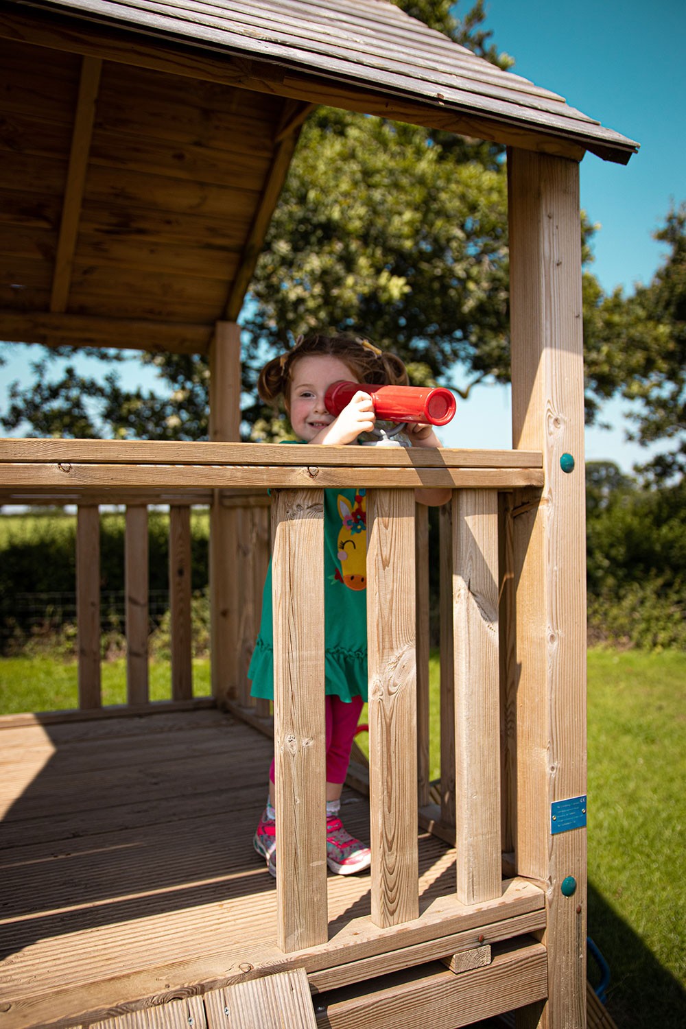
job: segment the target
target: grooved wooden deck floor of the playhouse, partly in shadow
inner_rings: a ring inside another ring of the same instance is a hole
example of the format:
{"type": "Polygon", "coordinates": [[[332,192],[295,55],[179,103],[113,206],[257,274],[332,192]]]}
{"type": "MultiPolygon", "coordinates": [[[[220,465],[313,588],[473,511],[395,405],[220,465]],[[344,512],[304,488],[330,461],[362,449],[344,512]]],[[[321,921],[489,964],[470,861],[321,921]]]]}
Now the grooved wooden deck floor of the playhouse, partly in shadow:
{"type": "MultiPolygon", "coordinates": [[[[80,1013],[103,1018],[287,966],[275,881],[252,848],[270,748],[215,710],[5,720],[0,1029],[80,1024],[80,1013]]],[[[368,839],[366,802],[347,791],[344,813],[368,839]]],[[[420,855],[426,911],[454,891],[455,873],[433,837],[421,837],[420,855]]],[[[522,912],[542,906],[521,889],[522,912]]],[[[369,914],[369,876],[329,876],[328,902],[335,950],[369,914]]]]}

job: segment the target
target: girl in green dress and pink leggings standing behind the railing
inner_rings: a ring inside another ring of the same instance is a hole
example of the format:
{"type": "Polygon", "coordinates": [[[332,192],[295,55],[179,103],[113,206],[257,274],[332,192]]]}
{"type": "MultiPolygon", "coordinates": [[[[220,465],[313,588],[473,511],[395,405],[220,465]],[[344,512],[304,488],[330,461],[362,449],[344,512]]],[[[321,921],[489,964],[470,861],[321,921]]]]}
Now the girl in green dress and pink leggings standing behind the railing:
{"type": "MultiPolygon", "coordinates": [[[[262,400],[283,397],[297,441],[327,447],[357,441],[374,427],[371,397],[360,389],[337,418],[324,404],[329,386],[339,380],[361,385],[407,385],[400,358],[383,353],[366,340],[348,335],[299,336],[293,350],[277,357],[260,372],[257,391],[262,400]]],[[[408,425],[413,447],[440,447],[431,425],[408,425]]],[[[445,503],[449,490],[418,490],[426,504],[445,503]]],[[[353,737],[367,699],[366,627],[366,507],[364,490],[324,491],[324,575],[326,639],[326,852],[327,863],[340,876],[368,868],[369,848],[344,828],[338,816],[353,737]]],[[[272,636],[272,567],[262,599],[262,619],[248,676],[252,696],[274,699],[272,636]]],[[[267,805],[257,825],[253,845],[273,876],[276,864],[274,761],[269,770],[267,805]]]]}

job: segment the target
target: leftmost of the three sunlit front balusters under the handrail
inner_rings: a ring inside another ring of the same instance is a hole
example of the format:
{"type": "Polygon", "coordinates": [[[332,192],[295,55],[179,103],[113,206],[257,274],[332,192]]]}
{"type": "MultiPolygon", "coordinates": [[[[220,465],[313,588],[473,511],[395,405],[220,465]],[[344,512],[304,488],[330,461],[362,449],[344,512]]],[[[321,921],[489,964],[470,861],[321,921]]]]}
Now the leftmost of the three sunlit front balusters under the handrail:
{"type": "Polygon", "coordinates": [[[324,493],[275,494],[274,745],[277,939],[326,943],[324,493]]]}

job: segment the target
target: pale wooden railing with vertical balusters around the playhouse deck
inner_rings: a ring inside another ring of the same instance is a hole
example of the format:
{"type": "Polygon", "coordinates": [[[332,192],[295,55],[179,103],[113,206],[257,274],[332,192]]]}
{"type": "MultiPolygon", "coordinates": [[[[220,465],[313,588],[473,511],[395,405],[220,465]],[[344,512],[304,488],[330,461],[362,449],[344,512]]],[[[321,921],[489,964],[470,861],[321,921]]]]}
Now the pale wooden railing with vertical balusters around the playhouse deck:
{"type": "MultiPolygon", "coordinates": [[[[323,490],[347,486],[367,490],[371,919],[384,928],[418,917],[417,825],[422,815],[425,821],[433,820],[441,835],[455,833],[458,900],[476,904],[501,895],[503,826],[512,817],[501,810],[508,805],[501,804],[500,788],[501,691],[505,705],[512,691],[504,684],[507,652],[501,655],[501,637],[505,651],[508,648],[507,632],[499,626],[509,574],[506,496],[509,491],[531,488],[536,497],[543,482],[541,456],[535,453],[306,450],[305,466],[295,463],[302,460],[302,449],[267,445],[0,441],[4,492],[13,490],[15,497],[29,487],[53,491],[65,480],[86,495],[106,487],[112,497],[117,490],[130,495],[133,491],[135,497],[137,490],[142,494],[151,488],[272,488],[278,939],[286,952],[322,944],[328,931],[325,840],[319,829],[324,822],[325,781],[323,490]],[[452,504],[440,514],[441,784],[440,804],[433,807],[424,623],[427,523],[425,510],[416,513],[413,492],[422,486],[454,491],[452,504]]],[[[217,492],[214,498],[216,506],[217,492]]],[[[248,629],[254,638],[260,589],[255,561],[245,545],[245,527],[253,524],[253,516],[240,506],[233,505],[232,510],[234,528],[241,520],[244,528],[242,532],[237,529],[234,539],[239,567],[236,552],[223,556],[233,583],[226,595],[233,596],[234,611],[241,591],[245,591],[244,599],[251,598],[244,628],[234,629],[231,637],[240,644],[247,641],[248,629]]],[[[84,630],[79,661],[88,690],[99,660],[97,517],[95,506],[79,509],[78,588],[84,630]]],[[[258,535],[263,538],[264,523],[260,525],[258,535]]],[[[145,526],[145,507],[130,504],[127,592],[132,704],[140,703],[146,693],[140,614],[145,605],[141,570],[145,526]]],[[[228,542],[227,535],[223,542],[228,542]]],[[[188,507],[182,504],[172,506],[170,555],[177,639],[174,697],[181,700],[190,696],[191,688],[189,522],[188,507]]],[[[224,697],[218,697],[237,710],[249,704],[244,682],[247,657],[241,652],[229,675],[232,681],[226,684],[224,697]]],[[[82,691],[82,704],[98,702],[96,690],[82,691]]]]}

